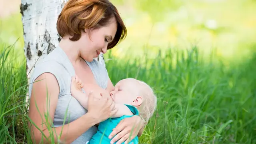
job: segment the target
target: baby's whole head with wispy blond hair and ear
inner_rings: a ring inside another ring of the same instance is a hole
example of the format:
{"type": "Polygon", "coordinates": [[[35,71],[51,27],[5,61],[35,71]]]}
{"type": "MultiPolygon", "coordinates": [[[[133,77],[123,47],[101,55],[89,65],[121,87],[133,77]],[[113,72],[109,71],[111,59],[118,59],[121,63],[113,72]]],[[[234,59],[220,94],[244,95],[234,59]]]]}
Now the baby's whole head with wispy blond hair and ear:
{"type": "Polygon", "coordinates": [[[146,123],[156,110],[156,96],[152,88],[134,78],[120,80],[110,95],[116,103],[135,106],[146,123]]]}

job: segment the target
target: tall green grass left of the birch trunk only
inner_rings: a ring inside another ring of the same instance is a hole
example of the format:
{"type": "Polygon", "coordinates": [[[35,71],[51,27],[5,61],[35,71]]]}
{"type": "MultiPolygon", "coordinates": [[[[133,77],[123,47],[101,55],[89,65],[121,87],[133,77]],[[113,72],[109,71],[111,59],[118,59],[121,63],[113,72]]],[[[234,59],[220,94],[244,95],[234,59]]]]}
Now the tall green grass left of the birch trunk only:
{"type": "Polygon", "coordinates": [[[26,65],[14,61],[13,46],[0,45],[0,143],[22,141],[26,65]]]}

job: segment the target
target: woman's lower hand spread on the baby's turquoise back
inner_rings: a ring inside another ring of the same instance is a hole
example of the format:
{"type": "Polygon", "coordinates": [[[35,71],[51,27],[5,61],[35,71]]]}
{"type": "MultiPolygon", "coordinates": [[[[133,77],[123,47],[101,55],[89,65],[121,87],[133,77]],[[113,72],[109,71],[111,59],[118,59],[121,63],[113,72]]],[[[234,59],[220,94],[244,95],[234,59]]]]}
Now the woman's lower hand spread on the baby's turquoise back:
{"type": "Polygon", "coordinates": [[[114,128],[108,138],[112,138],[111,144],[114,144],[118,140],[116,144],[121,144],[125,141],[125,144],[128,144],[132,139],[134,139],[140,129],[144,126],[144,121],[140,116],[132,116],[130,118],[124,118],[119,122],[119,124],[114,128]]]}

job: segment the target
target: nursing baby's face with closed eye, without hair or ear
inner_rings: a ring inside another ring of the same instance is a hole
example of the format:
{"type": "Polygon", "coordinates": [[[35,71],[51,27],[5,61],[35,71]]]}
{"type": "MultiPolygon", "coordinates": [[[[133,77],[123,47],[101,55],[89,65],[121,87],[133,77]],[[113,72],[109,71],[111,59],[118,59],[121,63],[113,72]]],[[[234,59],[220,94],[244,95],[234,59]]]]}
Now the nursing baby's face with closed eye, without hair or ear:
{"type": "Polygon", "coordinates": [[[132,102],[139,96],[140,87],[138,85],[134,79],[120,80],[110,95],[116,103],[132,105],[132,102]]]}

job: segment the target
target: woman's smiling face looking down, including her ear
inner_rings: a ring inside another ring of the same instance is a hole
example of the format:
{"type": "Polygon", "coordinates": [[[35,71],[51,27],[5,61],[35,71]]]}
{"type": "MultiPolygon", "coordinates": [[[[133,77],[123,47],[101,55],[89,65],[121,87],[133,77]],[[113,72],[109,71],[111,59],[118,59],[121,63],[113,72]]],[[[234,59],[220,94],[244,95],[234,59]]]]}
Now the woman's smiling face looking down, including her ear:
{"type": "Polygon", "coordinates": [[[110,43],[117,31],[117,22],[115,18],[111,18],[108,26],[98,29],[85,29],[81,38],[78,40],[80,56],[91,62],[93,58],[98,57],[100,52],[106,53],[108,43],[110,43]],[[90,37],[89,37],[90,32],[90,37]]]}

